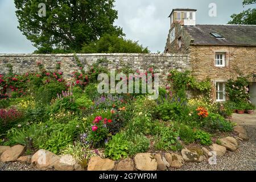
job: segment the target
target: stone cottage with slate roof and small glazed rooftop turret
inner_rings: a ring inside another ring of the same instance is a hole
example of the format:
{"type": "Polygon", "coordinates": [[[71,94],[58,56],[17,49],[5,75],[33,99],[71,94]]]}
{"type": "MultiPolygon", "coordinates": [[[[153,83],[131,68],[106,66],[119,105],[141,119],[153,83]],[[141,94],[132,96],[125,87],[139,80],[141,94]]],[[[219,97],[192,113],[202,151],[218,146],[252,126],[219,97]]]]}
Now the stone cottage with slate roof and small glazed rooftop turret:
{"type": "Polygon", "coordinates": [[[165,53],[186,53],[192,74],[209,77],[214,100],[225,101],[225,82],[251,75],[251,102],[256,105],[256,26],[196,24],[195,9],[174,9],[165,53]]]}

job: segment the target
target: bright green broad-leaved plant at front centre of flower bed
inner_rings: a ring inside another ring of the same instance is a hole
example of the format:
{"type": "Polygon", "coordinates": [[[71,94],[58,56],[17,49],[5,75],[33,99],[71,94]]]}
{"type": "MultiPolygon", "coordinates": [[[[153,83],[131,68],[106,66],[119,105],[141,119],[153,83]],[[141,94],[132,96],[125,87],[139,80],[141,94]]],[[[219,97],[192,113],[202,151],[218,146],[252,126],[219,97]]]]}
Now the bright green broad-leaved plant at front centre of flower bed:
{"type": "Polygon", "coordinates": [[[112,136],[112,139],[106,143],[105,155],[114,160],[126,158],[128,156],[128,146],[129,143],[125,139],[125,135],[119,133],[112,136]]]}

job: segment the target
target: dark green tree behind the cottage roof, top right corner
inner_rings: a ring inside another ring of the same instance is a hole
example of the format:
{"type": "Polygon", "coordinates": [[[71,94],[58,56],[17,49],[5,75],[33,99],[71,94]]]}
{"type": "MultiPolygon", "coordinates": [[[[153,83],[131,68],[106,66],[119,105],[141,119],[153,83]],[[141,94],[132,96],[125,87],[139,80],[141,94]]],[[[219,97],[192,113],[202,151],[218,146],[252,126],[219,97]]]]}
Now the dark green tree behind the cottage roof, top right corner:
{"type": "MultiPolygon", "coordinates": [[[[256,0],[243,0],[243,6],[255,4],[256,0]]],[[[240,14],[231,15],[228,24],[256,24],[256,9],[247,9],[240,14]]]]}

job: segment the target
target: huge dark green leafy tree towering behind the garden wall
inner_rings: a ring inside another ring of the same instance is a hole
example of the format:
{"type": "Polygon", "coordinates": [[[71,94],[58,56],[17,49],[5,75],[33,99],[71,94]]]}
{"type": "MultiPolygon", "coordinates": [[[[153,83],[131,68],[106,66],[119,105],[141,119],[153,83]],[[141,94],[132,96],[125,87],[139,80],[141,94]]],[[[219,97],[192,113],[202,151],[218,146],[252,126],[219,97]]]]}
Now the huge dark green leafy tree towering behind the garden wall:
{"type": "Polygon", "coordinates": [[[79,52],[82,45],[104,34],[123,36],[113,26],[118,18],[114,0],[14,0],[19,30],[34,44],[37,53],[79,52]],[[46,16],[40,17],[39,3],[46,16]]]}

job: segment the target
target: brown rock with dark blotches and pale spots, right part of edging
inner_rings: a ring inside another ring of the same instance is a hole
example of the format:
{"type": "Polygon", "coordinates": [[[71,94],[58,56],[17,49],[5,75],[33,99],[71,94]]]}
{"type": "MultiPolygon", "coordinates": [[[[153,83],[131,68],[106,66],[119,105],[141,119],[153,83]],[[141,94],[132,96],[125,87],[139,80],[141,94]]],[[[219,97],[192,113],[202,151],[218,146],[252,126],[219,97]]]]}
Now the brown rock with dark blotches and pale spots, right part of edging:
{"type": "Polygon", "coordinates": [[[185,162],[202,162],[204,157],[201,154],[203,154],[203,151],[198,154],[196,150],[188,150],[187,148],[181,150],[181,156],[185,162]]]}

